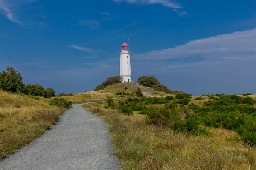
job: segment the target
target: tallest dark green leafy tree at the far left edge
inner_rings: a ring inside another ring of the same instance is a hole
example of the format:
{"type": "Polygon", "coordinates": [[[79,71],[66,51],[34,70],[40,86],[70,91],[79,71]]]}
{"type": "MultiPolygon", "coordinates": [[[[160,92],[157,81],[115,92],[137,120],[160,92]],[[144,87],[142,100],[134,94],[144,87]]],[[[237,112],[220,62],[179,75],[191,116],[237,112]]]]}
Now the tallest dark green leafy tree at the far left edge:
{"type": "Polygon", "coordinates": [[[13,67],[0,73],[0,88],[4,91],[20,92],[23,89],[22,76],[13,67]]]}

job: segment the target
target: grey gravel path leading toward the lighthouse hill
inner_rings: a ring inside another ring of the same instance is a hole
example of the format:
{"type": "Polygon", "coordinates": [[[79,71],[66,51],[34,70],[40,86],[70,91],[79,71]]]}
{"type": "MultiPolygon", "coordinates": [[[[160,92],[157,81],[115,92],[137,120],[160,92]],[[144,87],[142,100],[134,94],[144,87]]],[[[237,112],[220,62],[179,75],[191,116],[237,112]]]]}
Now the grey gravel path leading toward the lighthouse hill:
{"type": "Polygon", "coordinates": [[[108,127],[73,105],[51,130],[0,161],[0,170],[117,170],[108,127]]]}

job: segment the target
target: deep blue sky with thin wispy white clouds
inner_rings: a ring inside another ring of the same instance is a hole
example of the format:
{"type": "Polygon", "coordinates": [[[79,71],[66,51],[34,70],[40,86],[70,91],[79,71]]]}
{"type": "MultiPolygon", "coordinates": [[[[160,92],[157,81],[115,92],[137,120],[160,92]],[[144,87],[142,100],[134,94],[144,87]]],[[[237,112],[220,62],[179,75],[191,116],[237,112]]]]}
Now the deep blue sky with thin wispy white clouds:
{"type": "Polygon", "coordinates": [[[255,0],[0,0],[0,71],[58,92],[131,75],[193,95],[256,94],[255,0]]]}

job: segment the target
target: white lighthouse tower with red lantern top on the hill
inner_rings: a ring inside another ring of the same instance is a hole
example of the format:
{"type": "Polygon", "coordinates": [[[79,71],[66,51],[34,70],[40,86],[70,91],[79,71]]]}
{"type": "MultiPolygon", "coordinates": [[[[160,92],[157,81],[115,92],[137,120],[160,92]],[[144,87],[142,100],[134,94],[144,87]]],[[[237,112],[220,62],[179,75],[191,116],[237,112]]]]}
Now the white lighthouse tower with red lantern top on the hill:
{"type": "Polygon", "coordinates": [[[120,51],[120,76],[123,82],[131,82],[131,62],[129,46],[124,42],[120,51]]]}

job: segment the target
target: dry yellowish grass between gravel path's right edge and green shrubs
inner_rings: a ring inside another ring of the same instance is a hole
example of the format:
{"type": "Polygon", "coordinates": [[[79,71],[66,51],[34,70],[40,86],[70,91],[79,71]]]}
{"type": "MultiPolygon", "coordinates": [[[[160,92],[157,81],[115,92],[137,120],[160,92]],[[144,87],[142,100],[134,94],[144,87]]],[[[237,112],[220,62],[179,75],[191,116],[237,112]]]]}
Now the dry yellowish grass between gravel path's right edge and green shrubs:
{"type": "Polygon", "coordinates": [[[126,116],[104,109],[105,103],[84,105],[110,127],[113,150],[129,170],[255,170],[256,148],[244,147],[236,132],[212,129],[212,137],[175,134],[147,125],[145,116],[126,116]]]}

